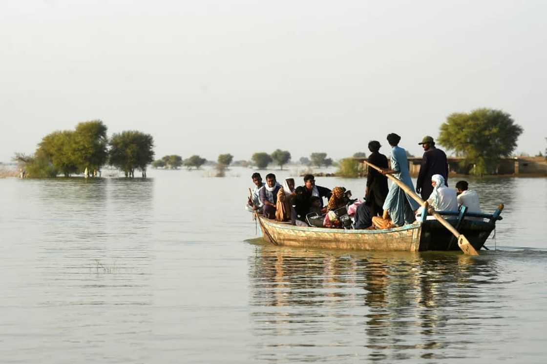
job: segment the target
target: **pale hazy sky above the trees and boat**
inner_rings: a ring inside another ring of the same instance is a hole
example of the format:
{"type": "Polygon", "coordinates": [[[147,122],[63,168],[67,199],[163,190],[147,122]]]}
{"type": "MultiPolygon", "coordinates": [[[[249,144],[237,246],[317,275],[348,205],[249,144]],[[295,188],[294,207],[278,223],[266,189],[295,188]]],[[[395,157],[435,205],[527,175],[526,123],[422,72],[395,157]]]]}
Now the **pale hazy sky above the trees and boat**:
{"type": "MultiPolygon", "coordinates": [[[[503,109],[544,150],[545,1],[0,2],[0,161],[101,119],[156,156],[312,151],[386,134],[419,154],[454,111],[503,109]]],[[[383,151],[387,151],[384,147],[383,151]]]]}

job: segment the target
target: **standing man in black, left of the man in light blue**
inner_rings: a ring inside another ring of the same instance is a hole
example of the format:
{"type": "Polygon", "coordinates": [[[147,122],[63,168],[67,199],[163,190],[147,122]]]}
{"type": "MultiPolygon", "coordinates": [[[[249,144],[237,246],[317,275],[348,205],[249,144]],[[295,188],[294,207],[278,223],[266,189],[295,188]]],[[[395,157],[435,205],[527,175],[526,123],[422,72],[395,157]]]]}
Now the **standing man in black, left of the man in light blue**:
{"type": "MultiPolygon", "coordinates": [[[[369,150],[371,151],[369,162],[377,167],[387,169],[387,158],[385,155],[380,154],[380,147],[380,142],[377,140],[369,142],[369,150]]],[[[374,168],[369,168],[369,172],[366,175],[365,200],[366,205],[370,209],[371,216],[382,214],[383,202],[386,201],[388,191],[386,176],[374,168]]]]}

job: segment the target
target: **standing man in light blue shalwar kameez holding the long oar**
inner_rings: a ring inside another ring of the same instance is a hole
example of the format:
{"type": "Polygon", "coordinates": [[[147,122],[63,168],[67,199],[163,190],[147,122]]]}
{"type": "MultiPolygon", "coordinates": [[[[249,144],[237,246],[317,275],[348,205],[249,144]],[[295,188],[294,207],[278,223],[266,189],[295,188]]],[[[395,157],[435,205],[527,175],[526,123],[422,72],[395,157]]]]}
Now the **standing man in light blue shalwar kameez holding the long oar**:
{"type": "MultiPolygon", "coordinates": [[[[410,178],[408,160],[406,159],[406,150],[398,146],[400,139],[401,137],[394,133],[387,136],[387,141],[392,146],[392,149],[391,170],[386,173],[392,174],[393,177],[402,181],[414,192],[414,184],[412,184],[412,179],[410,178]]],[[[420,205],[395,183],[392,183],[391,187],[389,187],[386,201],[383,203],[383,209],[387,210],[395,226],[412,224],[416,220],[414,212],[419,207],[420,205]]]]}

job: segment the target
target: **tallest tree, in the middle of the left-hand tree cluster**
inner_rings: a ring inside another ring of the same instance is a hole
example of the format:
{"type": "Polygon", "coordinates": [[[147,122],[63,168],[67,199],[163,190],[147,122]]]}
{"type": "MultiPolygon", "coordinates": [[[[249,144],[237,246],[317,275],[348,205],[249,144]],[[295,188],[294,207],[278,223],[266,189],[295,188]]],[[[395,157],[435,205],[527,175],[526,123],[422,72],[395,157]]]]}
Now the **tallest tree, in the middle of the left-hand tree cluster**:
{"type": "Polygon", "coordinates": [[[74,131],[74,160],[80,171],[98,171],[108,160],[107,127],[101,120],[80,122],[74,131]]]}

